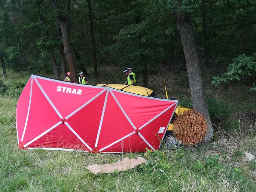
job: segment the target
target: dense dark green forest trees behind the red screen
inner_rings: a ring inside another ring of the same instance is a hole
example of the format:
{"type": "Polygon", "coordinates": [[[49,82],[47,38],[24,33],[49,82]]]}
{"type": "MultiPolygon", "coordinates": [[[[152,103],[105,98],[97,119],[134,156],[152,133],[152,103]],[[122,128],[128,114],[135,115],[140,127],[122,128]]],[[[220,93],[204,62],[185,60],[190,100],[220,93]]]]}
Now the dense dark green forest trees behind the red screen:
{"type": "Polygon", "coordinates": [[[147,71],[157,71],[159,64],[178,72],[183,63],[186,70],[174,14],[180,10],[190,17],[200,61],[230,66],[230,73],[215,77],[215,84],[239,80],[239,75],[255,75],[255,9],[252,0],[1,0],[3,75],[6,69],[46,70],[60,79],[67,71],[75,77],[93,66],[97,79],[98,66],[129,63],[143,74],[146,87],[147,71]]]}

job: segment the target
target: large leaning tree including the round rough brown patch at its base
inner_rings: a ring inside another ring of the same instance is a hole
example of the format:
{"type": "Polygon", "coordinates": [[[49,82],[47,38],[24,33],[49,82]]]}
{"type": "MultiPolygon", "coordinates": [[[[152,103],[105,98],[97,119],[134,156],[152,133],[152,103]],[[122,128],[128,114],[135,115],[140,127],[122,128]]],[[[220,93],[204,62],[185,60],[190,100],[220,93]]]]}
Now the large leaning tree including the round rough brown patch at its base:
{"type": "MultiPolygon", "coordinates": [[[[177,28],[180,34],[182,47],[187,66],[187,74],[190,86],[190,94],[194,113],[188,112],[183,120],[183,130],[180,135],[185,137],[186,144],[200,144],[209,142],[213,137],[213,128],[204,95],[200,61],[195,40],[194,29],[192,27],[190,16],[185,11],[180,0],[172,1],[177,28]],[[187,124],[189,123],[189,125],[187,124]],[[188,129],[190,127],[190,129],[188,129]],[[201,130],[199,129],[201,127],[201,130]],[[198,130],[197,130],[198,128],[198,130]],[[195,129],[195,130],[194,130],[195,129]],[[192,134],[193,133],[193,134],[192,134]],[[191,138],[198,138],[191,141],[191,138]],[[189,140],[189,141],[188,141],[189,140]],[[196,143],[195,143],[196,142],[196,143]]],[[[181,126],[179,126],[181,127],[181,126]]],[[[177,134],[176,134],[177,135],[177,134]]]]}

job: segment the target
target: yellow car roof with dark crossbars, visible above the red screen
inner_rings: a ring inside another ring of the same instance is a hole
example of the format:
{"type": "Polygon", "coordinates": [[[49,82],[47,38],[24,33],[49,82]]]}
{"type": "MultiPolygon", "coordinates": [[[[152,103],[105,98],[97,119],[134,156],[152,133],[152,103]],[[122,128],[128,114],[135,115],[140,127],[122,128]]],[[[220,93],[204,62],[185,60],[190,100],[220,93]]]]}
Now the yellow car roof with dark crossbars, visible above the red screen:
{"type": "Polygon", "coordinates": [[[140,87],[140,86],[128,86],[128,85],[122,85],[122,84],[97,84],[97,86],[104,86],[104,87],[111,87],[114,89],[118,89],[121,90],[123,89],[123,91],[125,92],[129,92],[129,93],[135,93],[135,94],[139,94],[139,95],[144,95],[144,96],[149,96],[151,93],[153,93],[154,91],[145,87],[140,87]]]}

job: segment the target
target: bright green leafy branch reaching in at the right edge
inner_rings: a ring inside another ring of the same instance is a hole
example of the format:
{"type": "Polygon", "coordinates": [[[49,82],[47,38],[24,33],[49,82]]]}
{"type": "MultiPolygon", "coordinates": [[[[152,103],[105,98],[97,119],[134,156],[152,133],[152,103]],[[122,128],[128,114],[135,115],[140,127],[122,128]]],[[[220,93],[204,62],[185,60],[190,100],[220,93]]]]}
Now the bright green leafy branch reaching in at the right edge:
{"type": "MultiPolygon", "coordinates": [[[[241,76],[251,76],[256,75],[256,53],[252,56],[246,56],[245,54],[239,55],[236,59],[233,59],[233,63],[227,68],[227,72],[221,75],[221,77],[213,77],[212,84],[215,86],[220,85],[221,83],[238,80],[240,81],[241,76]]],[[[254,88],[250,91],[254,91],[254,88]]]]}

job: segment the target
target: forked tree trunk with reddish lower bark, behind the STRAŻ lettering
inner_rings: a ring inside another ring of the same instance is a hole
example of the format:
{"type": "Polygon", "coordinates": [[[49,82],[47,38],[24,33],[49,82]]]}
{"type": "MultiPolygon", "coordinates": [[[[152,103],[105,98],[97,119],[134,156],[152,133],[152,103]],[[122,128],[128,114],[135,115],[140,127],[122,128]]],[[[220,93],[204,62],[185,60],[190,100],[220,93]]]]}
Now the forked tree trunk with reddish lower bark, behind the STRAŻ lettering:
{"type": "MultiPolygon", "coordinates": [[[[49,0],[55,10],[61,10],[62,8],[59,5],[58,1],[49,0]]],[[[62,6],[62,11],[59,11],[60,14],[56,16],[56,20],[60,24],[61,33],[62,33],[62,41],[64,46],[64,53],[66,55],[69,70],[71,73],[71,80],[78,81],[76,74],[76,66],[74,62],[74,57],[71,49],[70,38],[69,38],[69,9],[70,9],[70,0],[65,1],[65,5],[62,6]],[[64,15],[64,16],[63,16],[64,15]]]]}

